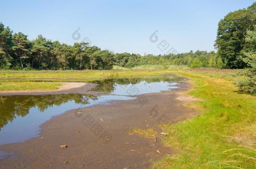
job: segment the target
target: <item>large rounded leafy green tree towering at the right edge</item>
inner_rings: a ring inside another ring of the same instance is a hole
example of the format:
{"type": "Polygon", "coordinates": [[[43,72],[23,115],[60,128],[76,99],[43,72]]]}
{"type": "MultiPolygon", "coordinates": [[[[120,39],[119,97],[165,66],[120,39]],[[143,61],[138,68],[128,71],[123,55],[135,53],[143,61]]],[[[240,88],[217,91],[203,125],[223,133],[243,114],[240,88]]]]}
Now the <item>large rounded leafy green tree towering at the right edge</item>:
{"type": "Polygon", "coordinates": [[[256,25],[256,3],[247,9],[228,13],[219,21],[215,47],[217,54],[225,63],[225,68],[244,68],[243,49],[247,30],[256,25]]]}

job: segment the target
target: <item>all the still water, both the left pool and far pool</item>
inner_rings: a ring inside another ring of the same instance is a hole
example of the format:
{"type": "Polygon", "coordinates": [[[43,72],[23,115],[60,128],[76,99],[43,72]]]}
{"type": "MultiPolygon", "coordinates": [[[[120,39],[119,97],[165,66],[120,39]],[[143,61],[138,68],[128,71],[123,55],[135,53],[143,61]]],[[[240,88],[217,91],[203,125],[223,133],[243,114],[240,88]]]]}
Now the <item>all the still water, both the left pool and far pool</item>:
{"type": "Polygon", "coordinates": [[[113,100],[135,99],[133,95],[157,93],[178,88],[172,77],[118,78],[94,81],[94,90],[109,93],[102,96],[60,94],[42,96],[1,96],[0,145],[23,142],[40,134],[40,125],[65,111],[109,104],[113,100]]]}

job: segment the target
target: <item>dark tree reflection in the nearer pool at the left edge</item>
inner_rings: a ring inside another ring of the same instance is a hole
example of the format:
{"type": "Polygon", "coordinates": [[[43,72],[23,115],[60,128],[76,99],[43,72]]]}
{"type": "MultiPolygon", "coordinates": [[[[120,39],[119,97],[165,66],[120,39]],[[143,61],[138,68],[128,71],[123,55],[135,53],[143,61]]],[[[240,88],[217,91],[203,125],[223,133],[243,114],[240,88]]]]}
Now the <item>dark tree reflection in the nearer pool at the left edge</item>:
{"type": "Polygon", "coordinates": [[[30,108],[37,107],[40,112],[52,106],[60,106],[68,101],[77,104],[87,104],[89,98],[96,100],[93,95],[81,94],[60,94],[43,96],[1,96],[0,98],[0,130],[8,122],[12,122],[17,116],[24,117],[29,113],[30,108]]]}

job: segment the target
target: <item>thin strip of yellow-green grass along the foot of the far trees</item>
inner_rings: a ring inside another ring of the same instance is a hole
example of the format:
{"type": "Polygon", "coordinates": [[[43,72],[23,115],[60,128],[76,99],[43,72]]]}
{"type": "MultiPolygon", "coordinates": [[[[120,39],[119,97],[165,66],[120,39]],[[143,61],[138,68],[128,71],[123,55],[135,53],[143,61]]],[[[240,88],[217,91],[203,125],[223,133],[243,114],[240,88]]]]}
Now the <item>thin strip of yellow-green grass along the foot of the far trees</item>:
{"type": "Polygon", "coordinates": [[[93,70],[93,71],[4,71],[0,70],[0,81],[3,80],[26,80],[30,81],[85,81],[90,79],[144,76],[144,75],[161,75],[168,70],[93,70]]]}

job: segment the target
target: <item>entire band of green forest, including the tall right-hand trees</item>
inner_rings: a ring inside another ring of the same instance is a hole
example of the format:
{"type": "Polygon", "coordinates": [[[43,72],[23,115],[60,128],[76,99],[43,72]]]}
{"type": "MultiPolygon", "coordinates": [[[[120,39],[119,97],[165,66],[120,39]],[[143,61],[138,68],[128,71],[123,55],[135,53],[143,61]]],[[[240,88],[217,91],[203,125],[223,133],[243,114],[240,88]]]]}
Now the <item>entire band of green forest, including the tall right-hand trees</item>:
{"type": "Polygon", "coordinates": [[[167,55],[113,53],[89,43],[68,45],[24,33],[0,23],[0,69],[109,70],[112,66],[185,65],[191,68],[250,68],[256,53],[256,3],[228,13],[219,21],[214,51],[167,55]]]}

